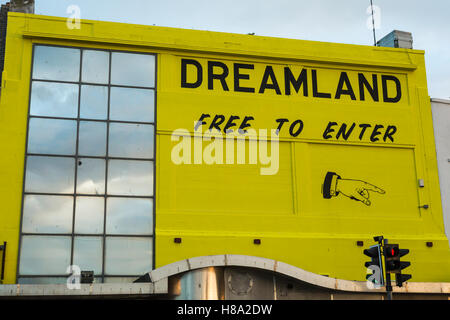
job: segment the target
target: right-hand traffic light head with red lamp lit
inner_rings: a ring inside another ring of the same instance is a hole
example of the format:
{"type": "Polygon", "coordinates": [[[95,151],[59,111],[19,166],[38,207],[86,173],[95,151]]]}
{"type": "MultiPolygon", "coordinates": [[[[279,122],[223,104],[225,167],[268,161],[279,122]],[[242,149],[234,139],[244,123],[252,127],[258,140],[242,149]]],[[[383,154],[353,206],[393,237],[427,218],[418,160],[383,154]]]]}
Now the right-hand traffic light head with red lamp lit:
{"type": "Polygon", "coordinates": [[[384,246],[384,262],[386,273],[395,273],[395,281],[398,287],[403,282],[411,279],[410,274],[402,274],[402,270],[409,267],[409,261],[400,261],[400,258],[409,253],[408,249],[400,249],[398,244],[386,244],[384,246]]]}

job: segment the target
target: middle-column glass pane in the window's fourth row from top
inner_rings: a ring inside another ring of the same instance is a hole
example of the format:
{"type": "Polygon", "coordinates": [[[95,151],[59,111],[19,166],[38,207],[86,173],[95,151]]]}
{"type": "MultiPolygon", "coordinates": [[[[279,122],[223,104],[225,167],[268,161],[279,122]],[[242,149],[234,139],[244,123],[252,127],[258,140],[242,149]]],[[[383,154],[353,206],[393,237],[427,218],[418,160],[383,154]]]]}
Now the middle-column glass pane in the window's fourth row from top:
{"type": "Polygon", "coordinates": [[[105,193],[105,160],[81,158],[77,162],[77,193],[105,193]]]}

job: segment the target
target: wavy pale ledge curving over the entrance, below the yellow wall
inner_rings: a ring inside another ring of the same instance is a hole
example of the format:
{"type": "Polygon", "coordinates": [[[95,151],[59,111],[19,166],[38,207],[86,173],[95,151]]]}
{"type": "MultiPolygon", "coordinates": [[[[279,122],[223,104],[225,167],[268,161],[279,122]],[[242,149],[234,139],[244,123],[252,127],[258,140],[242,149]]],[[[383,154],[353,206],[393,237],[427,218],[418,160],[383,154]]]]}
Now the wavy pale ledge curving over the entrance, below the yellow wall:
{"type": "MultiPolygon", "coordinates": [[[[339,290],[346,292],[386,292],[385,288],[374,289],[367,286],[366,281],[351,281],[343,279],[329,278],[321,276],[301,268],[294,267],[284,262],[266,259],[261,257],[252,257],[246,255],[214,255],[195,257],[181,260],[160,267],[149,272],[152,282],[168,279],[170,276],[207,267],[219,266],[239,266],[263,269],[273,271],[294,279],[330,290],[339,290]]],[[[450,283],[447,282],[407,282],[402,288],[393,287],[393,292],[398,293],[450,293],[450,283]]]]}

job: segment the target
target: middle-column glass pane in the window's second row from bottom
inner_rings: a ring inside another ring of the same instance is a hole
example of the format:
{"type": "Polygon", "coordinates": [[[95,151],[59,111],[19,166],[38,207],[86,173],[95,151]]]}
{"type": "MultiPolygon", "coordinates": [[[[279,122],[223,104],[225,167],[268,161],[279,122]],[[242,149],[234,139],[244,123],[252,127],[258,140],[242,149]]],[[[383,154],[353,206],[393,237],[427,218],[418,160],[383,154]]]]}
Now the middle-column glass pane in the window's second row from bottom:
{"type": "Polygon", "coordinates": [[[105,199],[77,197],[75,205],[75,233],[103,233],[105,199]]]}

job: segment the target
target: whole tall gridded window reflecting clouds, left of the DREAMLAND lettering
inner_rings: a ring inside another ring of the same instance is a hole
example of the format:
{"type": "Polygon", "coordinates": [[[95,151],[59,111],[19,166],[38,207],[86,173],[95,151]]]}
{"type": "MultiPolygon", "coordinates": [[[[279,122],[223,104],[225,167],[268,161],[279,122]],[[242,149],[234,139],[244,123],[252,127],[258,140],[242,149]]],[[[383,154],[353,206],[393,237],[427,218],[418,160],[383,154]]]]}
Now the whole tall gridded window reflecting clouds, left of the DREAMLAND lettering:
{"type": "Polygon", "coordinates": [[[155,56],[36,45],[18,283],[153,268],[155,56]]]}

